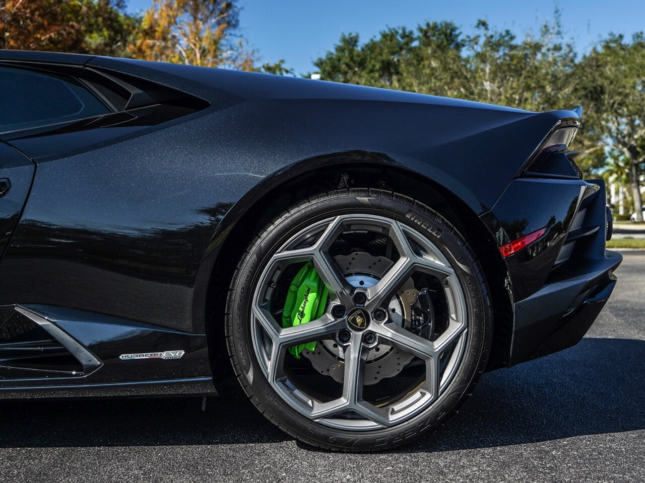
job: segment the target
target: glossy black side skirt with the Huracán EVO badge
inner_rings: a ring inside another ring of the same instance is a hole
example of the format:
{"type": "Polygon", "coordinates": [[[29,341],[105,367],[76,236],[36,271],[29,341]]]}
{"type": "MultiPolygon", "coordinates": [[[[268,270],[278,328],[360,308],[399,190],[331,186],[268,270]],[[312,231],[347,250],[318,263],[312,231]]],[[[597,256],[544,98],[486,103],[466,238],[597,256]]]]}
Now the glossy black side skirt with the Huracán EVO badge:
{"type": "Polygon", "coordinates": [[[0,399],[30,390],[46,393],[35,397],[215,391],[206,334],[72,308],[5,305],[0,399]]]}

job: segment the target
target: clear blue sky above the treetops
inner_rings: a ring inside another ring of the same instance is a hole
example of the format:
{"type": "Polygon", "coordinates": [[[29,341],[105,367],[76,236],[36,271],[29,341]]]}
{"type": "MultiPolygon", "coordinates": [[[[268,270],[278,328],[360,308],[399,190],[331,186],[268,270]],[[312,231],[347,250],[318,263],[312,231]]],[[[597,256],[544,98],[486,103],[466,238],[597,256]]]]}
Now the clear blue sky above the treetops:
{"type": "MultiPolygon", "coordinates": [[[[424,21],[452,20],[473,32],[477,19],[517,35],[537,32],[561,10],[566,37],[586,52],[608,32],[631,35],[645,30],[645,0],[239,0],[240,26],[262,61],[286,61],[301,74],[315,71],[312,61],[331,50],[341,33],[357,32],[362,41],[386,26],[413,28],[424,21]]],[[[129,0],[137,12],[150,0],[129,0]]]]}

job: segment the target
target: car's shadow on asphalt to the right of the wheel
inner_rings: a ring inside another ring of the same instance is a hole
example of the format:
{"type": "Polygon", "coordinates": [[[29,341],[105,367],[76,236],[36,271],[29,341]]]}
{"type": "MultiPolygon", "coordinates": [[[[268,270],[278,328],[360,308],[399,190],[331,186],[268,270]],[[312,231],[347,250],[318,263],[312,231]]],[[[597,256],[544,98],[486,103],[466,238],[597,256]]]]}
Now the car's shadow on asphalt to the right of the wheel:
{"type": "Polygon", "coordinates": [[[507,446],[645,428],[645,341],[579,345],[484,375],[446,426],[403,452],[507,446]]]}

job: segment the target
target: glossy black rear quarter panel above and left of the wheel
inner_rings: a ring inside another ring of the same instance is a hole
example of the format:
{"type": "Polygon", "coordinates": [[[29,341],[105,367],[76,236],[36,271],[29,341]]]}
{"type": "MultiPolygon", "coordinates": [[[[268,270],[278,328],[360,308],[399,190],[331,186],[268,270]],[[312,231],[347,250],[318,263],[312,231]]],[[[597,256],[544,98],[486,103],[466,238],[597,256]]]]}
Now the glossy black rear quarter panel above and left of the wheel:
{"type": "MultiPolygon", "coordinates": [[[[300,86],[303,92],[304,82],[311,86],[313,99],[242,102],[240,94],[246,91],[226,91],[243,84],[237,76],[230,78],[228,71],[101,61],[124,68],[134,65],[137,69],[128,71],[133,75],[163,68],[195,77],[197,71],[199,82],[219,87],[211,89],[206,99],[212,102],[211,107],[159,126],[117,125],[8,140],[34,158],[39,175],[14,243],[0,265],[7,274],[5,281],[0,281],[0,303],[12,303],[19,297],[21,303],[58,303],[204,332],[204,320],[193,317],[192,291],[212,240],[221,238],[223,229],[235,222],[220,223],[232,204],[250,206],[263,194],[263,187],[290,178],[302,169],[301,164],[313,167],[311,160],[358,150],[375,153],[384,164],[403,166],[435,180],[483,211],[508,183],[491,174],[498,169],[493,166],[509,166],[508,176],[512,176],[554,122],[517,109],[442,98],[431,98],[438,104],[393,102],[390,97],[426,98],[394,91],[366,89],[366,99],[388,100],[317,99],[332,97],[344,86],[323,83],[322,93],[318,93],[317,82],[293,79],[279,81],[300,86]],[[227,92],[226,108],[217,103],[221,92],[227,92]],[[231,105],[235,100],[239,102],[231,105]],[[392,117],[374,123],[386,108],[395,108],[392,117]],[[339,117],[339,109],[352,115],[339,117]],[[441,123],[432,125],[433,118],[441,123]],[[515,166],[502,162],[501,154],[484,149],[490,144],[491,133],[502,138],[515,129],[535,133],[536,122],[542,128],[537,129],[533,144],[522,143],[524,150],[515,166]],[[464,149],[468,154],[460,152],[464,149]],[[475,156],[488,156],[489,160],[470,163],[475,156]],[[495,157],[499,162],[492,159],[495,157]],[[464,176],[466,164],[477,169],[464,176]],[[457,181],[457,176],[463,182],[457,181]],[[482,182],[485,176],[490,180],[482,182]],[[134,180],[145,180],[145,184],[134,180]],[[475,195],[470,187],[485,187],[486,193],[475,195]],[[57,237],[43,243],[51,230],[57,237]],[[79,251],[78,247],[85,247],[90,240],[90,246],[79,251]],[[183,240],[188,243],[177,247],[183,240]],[[28,276],[19,278],[19,272],[28,276]],[[119,303],[110,303],[113,300],[119,303]]],[[[252,88],[263,79],[275,82],[272,76],[253,75],[251,79],[252,88]]],[[[188,85],[191,82],[175,82],[172,87],[194,89],[188,85]]],[[[279,98],[281,85],[275,84],[272,97],[279,98]]],[[[200,90],[191,93],[203,94],[200,90]]]]}

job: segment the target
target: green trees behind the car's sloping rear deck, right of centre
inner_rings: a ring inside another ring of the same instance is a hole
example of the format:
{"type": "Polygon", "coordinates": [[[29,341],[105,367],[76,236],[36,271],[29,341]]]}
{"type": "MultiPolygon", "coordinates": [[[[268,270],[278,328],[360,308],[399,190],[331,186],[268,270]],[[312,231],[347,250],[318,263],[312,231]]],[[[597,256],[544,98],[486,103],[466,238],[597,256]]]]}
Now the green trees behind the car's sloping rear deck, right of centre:
{"type": "Polygon", "coordinates": [[[556,12],[537,37],[522,41],[508,30],[491,30],[485,21],[471,36],[446,21],[416,30],[388,28],[362,45],[357,34],[342,35],[313,64],[326,81],[543,110],[562,108],[571,97],[575,55],[556,12]]]}

